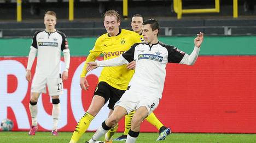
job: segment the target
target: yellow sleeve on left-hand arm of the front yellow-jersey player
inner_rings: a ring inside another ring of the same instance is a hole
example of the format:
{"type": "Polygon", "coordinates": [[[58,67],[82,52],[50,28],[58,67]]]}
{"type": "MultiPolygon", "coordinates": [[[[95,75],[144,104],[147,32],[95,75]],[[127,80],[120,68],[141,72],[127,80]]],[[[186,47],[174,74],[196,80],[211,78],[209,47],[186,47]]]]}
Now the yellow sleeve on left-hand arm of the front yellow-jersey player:
{"type": "Polygon", "coordinates": [[[98,38],[95,42],[94,48],[90,50],[90,54],[85,60],[84,67],[83,67],[82,73],[80,74],[80,77],[85,77],[85,75],[87,74],[88,72],[86,71],[86,67],[88,66],[87,63],[89,61],[95,61],[97,57],[100,56],[100,54],[102,53],[102,48],[100,45],[101,45],[101,40],[100,38],[98,38]]]}

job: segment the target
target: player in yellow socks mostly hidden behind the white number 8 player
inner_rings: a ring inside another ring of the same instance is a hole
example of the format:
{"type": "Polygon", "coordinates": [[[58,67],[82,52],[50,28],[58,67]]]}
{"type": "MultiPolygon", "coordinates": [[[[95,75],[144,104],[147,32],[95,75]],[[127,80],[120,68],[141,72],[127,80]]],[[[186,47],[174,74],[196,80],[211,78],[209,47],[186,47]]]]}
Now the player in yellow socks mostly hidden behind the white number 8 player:
{"type": "MultiPolygon", "coordinates": [[[[133,32],[136,32],[137,34],[139,34],[139,36],[141,36],[141,41],[144,41],[143,35],[142,35],[142,29],[141,29],[142,23],[143,23],[142,15],[136,14],[136,15],[132,16],[132,21],[131,21],[132,30],[133,30],[133,32]]],[[[128,65],[130,66],[130,68],[135,67],[135,63],[130,63],[128,65]]],[[[117,140],[117,141],[126,140],[127,134],[131,128],[131,120],[132,120],[134,113],[135,113],[135,111],[132,111],[131,113],[129,113],[128,115],[125,116],[125,131],[124,131],[123,135],[119,136],[115,140],[117,140]]],[[[158,120],[158,118],[155,116],[154,113],[149,114],[148,117],[146,118],[146,120],[159,130],[159,137],[158,137],[158,139],[156,139],[156,141],[165,140],[166,136],[171,133],[171,129],[168,127],[165,127],[158,120]]]]}

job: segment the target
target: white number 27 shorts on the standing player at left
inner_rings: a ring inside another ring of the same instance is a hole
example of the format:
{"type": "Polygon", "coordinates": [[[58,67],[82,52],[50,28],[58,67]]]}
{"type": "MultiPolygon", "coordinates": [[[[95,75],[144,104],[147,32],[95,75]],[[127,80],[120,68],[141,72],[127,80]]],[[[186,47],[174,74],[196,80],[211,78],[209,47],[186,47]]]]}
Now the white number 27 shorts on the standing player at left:
{"type": "Polygon", "coordinates": [[[34,75],[31,92],[44,93],[46,94],[46,85],[50,96],[62,95],[63,94],[63,83],[61,78],[49,78],[34,75]]]}

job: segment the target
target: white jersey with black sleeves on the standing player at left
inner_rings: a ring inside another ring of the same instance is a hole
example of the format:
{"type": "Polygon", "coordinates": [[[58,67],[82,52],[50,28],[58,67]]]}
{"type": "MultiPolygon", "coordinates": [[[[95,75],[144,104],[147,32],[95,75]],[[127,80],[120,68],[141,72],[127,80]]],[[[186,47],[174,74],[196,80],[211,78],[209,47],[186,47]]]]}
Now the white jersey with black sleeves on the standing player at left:
{"type": "Polygon", "coordinates": [[[44,77],[61,76],[61,51],[69,52],[66,35],[56,30],[38,31],[33,36],[31,48],[37,49],[36,74],[44,77]]]}

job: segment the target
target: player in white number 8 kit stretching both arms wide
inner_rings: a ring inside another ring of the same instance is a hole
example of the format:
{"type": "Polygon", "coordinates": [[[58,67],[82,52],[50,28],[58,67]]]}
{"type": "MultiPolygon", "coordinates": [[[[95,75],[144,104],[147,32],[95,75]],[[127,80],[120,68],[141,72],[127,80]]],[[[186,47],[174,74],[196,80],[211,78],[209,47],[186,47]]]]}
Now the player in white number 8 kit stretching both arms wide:
{"type": "Polygon", "coordinates": [[[136,43],[120,57],[89,62],[87,70],[98,66],[117,66],[136,60],[136,71],[124,95],[115,104],[112,115],[102,123],[89,140],[95,142],[131,110],[136,110],[126,143],[136,141],[141,122],[158,107],[164,89],[167,63],[193,65],[199,55],[203,33],[197,34],[193,52],[188,55],[178,48],[158,41],[159,23],[154,19],[143,22],[142,34],[145,43],[136,43]]]}

